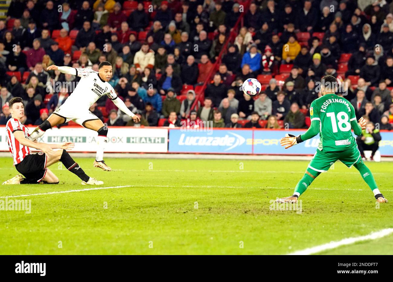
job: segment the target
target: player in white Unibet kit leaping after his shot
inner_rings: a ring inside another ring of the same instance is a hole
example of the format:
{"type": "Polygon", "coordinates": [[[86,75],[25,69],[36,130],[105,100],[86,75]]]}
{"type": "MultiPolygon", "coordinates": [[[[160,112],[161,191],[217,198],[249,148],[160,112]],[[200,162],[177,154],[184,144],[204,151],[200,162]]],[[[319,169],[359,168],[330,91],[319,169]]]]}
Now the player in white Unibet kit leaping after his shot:
{"type": "Polygon", "coordinates": [[[98,72],[89,68],[72,68],[69,66],[48,66],[48,70],[59,70],[63,74],[73,74],[81,77],[72,94],[67,98],[63,105],[55,110],[49,118],[39,125],[31,133],[31,140],[44,135],[45,131],[53,126],[69,122],[72,120],[83,127],[97,131],[97,155],[94,160],[94,167],[105,171],[112,170],[103,160],[104,147],[107,142],[108,127],[89,111],[101,96],[107,95],[109,99],[125,114],[129,115],[134,121],[140,121],[139,117],[133,114],[124,102],[118,98],[113,87],[108,83],[112,77],[112,65],[104,61],[99,64],[98,72]]]}

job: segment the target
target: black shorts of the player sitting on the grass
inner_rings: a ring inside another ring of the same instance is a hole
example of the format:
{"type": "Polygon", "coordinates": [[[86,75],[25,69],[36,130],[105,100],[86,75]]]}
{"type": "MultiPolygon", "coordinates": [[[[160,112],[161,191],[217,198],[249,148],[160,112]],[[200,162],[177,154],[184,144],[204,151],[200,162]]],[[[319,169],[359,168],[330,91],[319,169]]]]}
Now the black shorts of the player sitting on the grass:
{"type": "Polygon", "coordinates": [[[40,182],[46,174],[46,155],[44,152],[27,155],[22,162],[15,165],[17,171],[22,174],[27,181],[40,182]]]}

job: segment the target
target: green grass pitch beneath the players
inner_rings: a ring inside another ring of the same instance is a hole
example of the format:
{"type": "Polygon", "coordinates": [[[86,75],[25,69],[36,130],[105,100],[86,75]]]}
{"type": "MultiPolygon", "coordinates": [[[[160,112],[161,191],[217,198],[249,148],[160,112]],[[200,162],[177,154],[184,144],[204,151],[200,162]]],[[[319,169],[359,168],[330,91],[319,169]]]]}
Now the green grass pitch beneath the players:
{"type": "MultiPolygon", "coordinates": [[[[270,201],[292,195],[307,161],[106,159],[116,171],[103,172],[76,160],[105,184],[83,186],[55,164],[58,185],[1,186],[0,200],[22,195],[8,200],[31,200],[31,213],[0,210],[0,254],[288,254],[393,227],[392,203],[377,205],[340,162],[300,197],[297,213],[270,201]],[[127,187],[67,192],[116,186],[127,187]]],[[[392,164],[367,166],[393,201],[392,164]]],[[[0,158],[0,181],[16,173],[0,158]]],[[[393,254],[392,239],[320,254],[393,254]]]]}

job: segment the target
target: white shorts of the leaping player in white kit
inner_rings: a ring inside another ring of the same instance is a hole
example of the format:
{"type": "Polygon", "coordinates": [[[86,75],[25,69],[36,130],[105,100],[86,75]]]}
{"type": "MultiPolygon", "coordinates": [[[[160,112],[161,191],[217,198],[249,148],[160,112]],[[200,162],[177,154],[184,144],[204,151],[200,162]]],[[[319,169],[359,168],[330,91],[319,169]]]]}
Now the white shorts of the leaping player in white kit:
{"type": "Polygon", "coordinates": [[[99,120],[95,114],[89,111],[89,109],[81,109],[80,107],[74,105],[68,105],[64,103],[59,108],[57,108],[53,114],[64,118],[65,122],[69,122],[72,120],[79,125],[84,127],[85,122],[89,122],[90,120],[99,120]]]}

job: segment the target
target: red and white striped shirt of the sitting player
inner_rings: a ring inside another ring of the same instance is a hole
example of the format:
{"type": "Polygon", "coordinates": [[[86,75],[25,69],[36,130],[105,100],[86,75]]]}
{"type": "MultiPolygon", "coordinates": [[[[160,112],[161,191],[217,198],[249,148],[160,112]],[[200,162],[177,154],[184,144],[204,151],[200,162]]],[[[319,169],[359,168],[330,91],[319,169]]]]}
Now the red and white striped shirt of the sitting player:
{"type": "Polygon", "coordinates": [[[26,138],[30,135],[26,126],[24,126],[19,120],[16,118],[10,118],[6,124],[6,134],[9,152],[14,159],[14,166],[15,164],[20,163],[27,155],[31,154],[30,148],[20,144],[13,135],[13,133],[17,130],[23,131],[26,138]]]}

